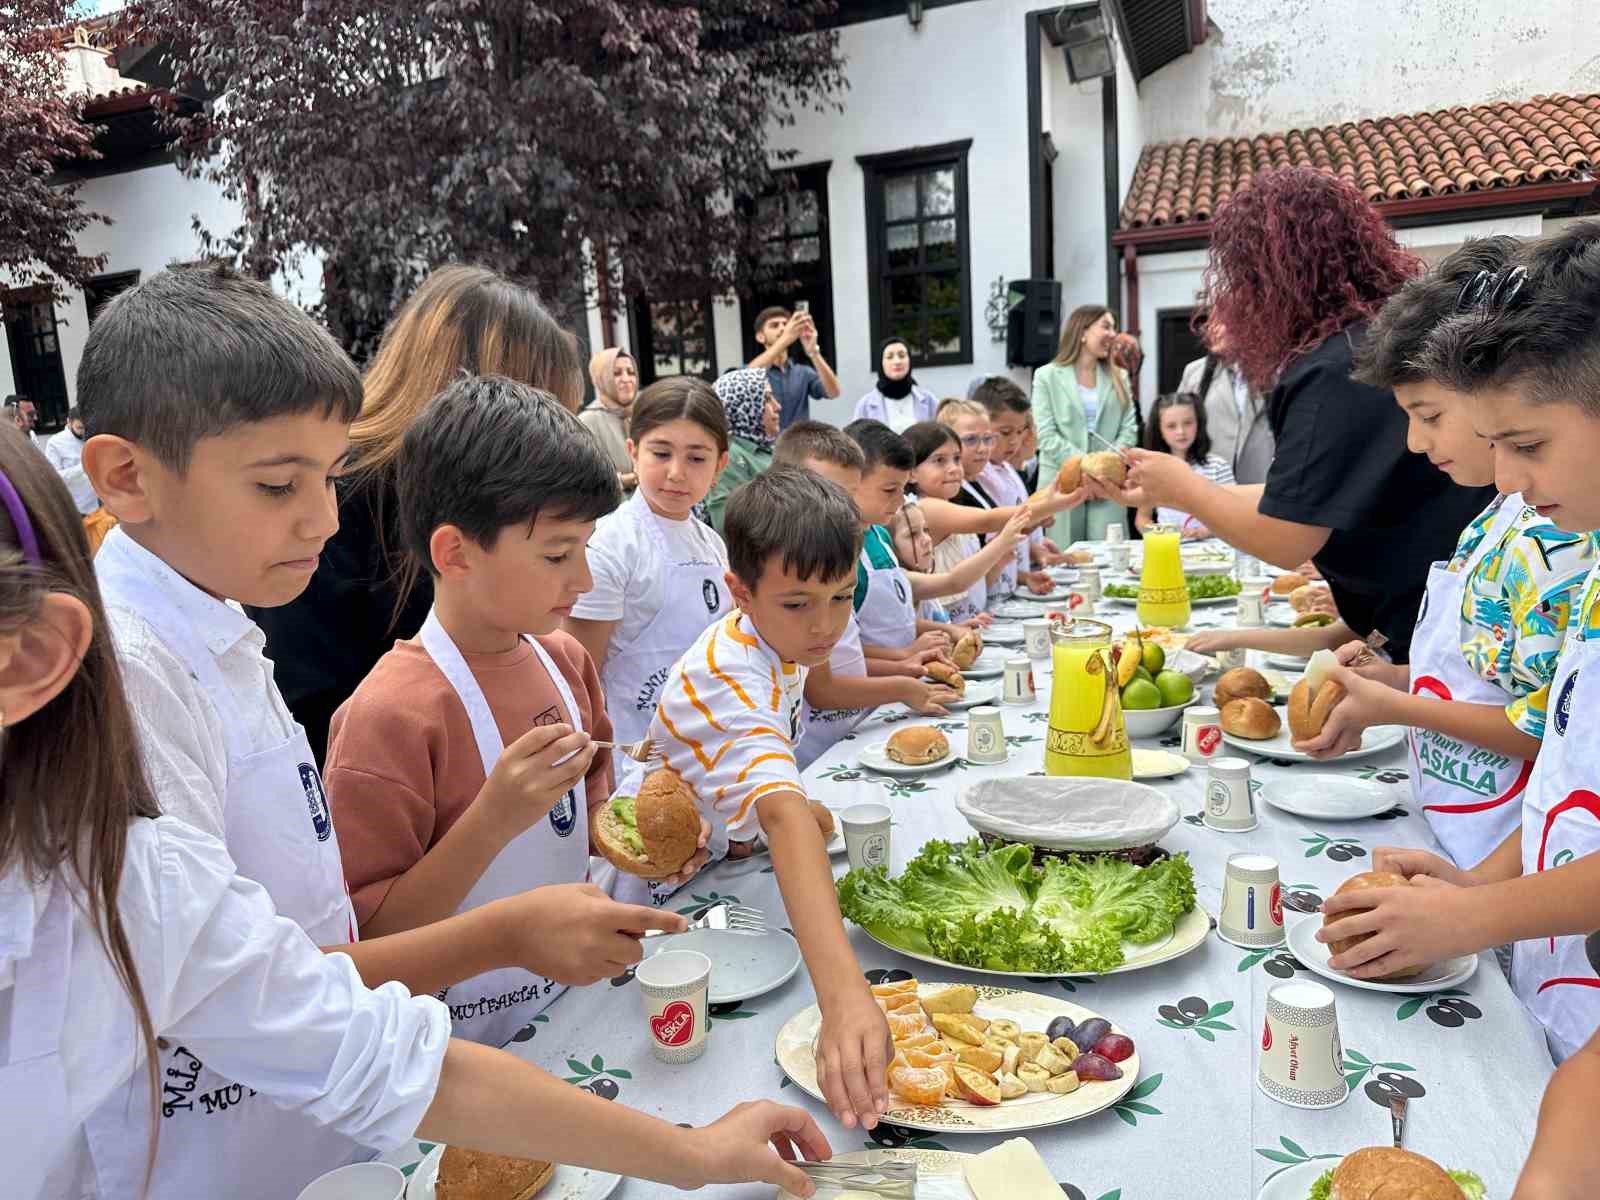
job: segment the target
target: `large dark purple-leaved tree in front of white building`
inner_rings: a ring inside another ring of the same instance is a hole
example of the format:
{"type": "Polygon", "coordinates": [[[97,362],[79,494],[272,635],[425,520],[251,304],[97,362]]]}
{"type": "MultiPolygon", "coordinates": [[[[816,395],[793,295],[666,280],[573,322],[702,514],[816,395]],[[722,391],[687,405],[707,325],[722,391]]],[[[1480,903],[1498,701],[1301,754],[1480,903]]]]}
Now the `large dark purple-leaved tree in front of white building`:
{"type": "Polygon", "coordinates": [[[365,355],[432,267],[579,290],[755,282],[768,134],[837,106],[834,0],[150,0],[187,170],[243,218],[206,250],[267,277],[315,251],[365,355]],[[603,270],[602,270],[603,262],[603,270]]]}

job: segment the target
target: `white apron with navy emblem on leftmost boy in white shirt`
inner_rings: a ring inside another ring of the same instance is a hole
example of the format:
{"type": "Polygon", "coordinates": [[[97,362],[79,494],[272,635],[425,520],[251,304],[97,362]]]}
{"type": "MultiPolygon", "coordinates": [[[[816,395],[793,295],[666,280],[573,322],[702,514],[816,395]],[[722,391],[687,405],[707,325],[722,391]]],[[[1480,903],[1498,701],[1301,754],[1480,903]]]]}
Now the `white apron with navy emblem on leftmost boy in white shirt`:
{"type": "MultiPolygon", "coordinates": [[[[238,874],[262,885],[278,914],[318,946],[357,939],[344,885],[339,838],[306,730],[251,752],[250,728],[200,637],[165,594],[122,555],[96,558],[107,600],[149,621],[216,704],[227,738],[224,832],[238,874]]],[[[334,1166],[373,1152],[310,1117],[280,1109],[251,1088],[210,1070],[187,1048],[158,1045],[160,1141],[150,1197],[226,1195],[280,1200],[334,1166]]],[[[139,1195],[149,1149],[149,1088],[141,1074],[112,1093],[86,1122],[102,1197],[139,1195]]]]}

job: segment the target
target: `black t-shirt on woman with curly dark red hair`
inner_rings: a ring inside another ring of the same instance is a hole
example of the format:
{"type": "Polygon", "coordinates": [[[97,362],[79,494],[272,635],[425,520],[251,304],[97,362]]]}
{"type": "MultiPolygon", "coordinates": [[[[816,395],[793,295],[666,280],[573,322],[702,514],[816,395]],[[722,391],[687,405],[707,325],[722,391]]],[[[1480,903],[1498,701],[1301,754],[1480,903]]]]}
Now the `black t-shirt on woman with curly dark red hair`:
{"type": "Polygon", "coordinates": [[[1395,662],[1406,662],[1429,565],[1450,558],[1494,488],[1458,486],[1406,450],[1394,392],[1350,379],[1365,336],[1365,322],[1333,334],[1272,389],[1277,451],[1259,509],[1333,530],[1312,562],[1339,616],[1362,637],[1384,634],[1395,662]]]}

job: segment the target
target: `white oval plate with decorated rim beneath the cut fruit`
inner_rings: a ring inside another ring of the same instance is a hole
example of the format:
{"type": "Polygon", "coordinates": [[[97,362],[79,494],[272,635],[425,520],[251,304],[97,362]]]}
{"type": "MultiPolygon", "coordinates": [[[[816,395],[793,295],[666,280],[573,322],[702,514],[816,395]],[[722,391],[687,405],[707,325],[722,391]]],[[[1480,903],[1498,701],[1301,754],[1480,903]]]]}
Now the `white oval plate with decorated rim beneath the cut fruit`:
{"type": "MultiPolygon", "coordinates": [[[[942,984],[923,984],[923,990],[934,992],[942,984]]],[[[978,987],[978,1016],[1016,1021],[1024,1032],[1045,1032],[1045,1027],[1058,1016],[1069,1016],[1077,1022],[1088,1021],[1098,1013],[1080,1008],[1069,1000],[1058,1000],[1040,992],[1022,992],[1011,987],[978,987]]],[[[784,1027],[778,1030],[776,1058],[778,1066],[795,1085],[811,1096],[822,1099],[822,1090],[816,1082],[816,1035],[822,1026],[822,1014],[816,1005],[808,1005],[795,1013],[784,1027]]],[[[1112,1029],[1123,1034],[1115,1022],[1112,1029]]],[[[1109,1109],[1126,1096],[1139,1080],[1139,1054],[1118,1062],[1122,1078],[1107,1082],[1085,1082],[1077,1091],[1056,1096],[1048,1091],[1030,1091],[1011,1101],[994,1106],[968,1104],[960,1099],[949,1099],[939,1106],[906,1104],[890,1107],[883,1120],[907,1130],[931,1130],[934,1133],[1018,1133],[1021,1130],[1038,1130],[1046,1125],[1064,1125],[1082,1120],[1096,1112],[1109,1109]]],[[[890,1104],[898,1098],[891,1093],[890,1104]]],[[[917,1189],[918,1197],[922,1189],[917,1189]]]]}

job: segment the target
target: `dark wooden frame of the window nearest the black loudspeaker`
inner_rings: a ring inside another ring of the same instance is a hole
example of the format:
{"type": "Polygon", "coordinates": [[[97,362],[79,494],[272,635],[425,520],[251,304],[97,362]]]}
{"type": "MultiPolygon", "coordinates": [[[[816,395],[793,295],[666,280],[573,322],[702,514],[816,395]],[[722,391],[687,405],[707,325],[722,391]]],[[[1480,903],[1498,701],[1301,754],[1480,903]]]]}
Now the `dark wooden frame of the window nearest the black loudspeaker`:
{"type": "MultiPolygon", "coordinates": [[[[888,288],[885,282],[896,275],[942,275],[944,270],[930,270],[926,264],[914,269],[894,269],[886,264],[888,224],[885,218],[883,187],[888,179],[898,174],[915,174],[939,166],[955,168],[955,258],[960,278],[960,349],[955,354],[912,355],[917,366],[960,366],[973,362],[973,262],[971,262],[971,211],[966,192],[966,157],[973,147],[973,139],[941,146],[918,146],[910,150],[893,154],[866,154],[856,162],[866,174],[867,202],[867,294],[870,299],[872,357],[869,366],[877,370],[877,346],[888,336],[888,288]]],[[[923,222],[922,213],[915,221],[923,222]]],[[[926,301],[923,302],[926,306],[926,301]]],[[[923,318],[926,307],[923,307],[923,318]]]]}

